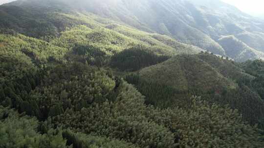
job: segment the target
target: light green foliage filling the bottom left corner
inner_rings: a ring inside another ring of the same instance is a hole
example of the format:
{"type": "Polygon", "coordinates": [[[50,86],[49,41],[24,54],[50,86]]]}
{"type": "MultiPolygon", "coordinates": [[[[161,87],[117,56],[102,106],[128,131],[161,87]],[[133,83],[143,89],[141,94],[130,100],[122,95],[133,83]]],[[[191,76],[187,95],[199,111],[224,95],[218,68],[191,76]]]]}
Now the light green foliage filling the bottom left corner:
{"type": "Polygon", "coordinates": [[[36,118],[2,106],[0,117],[0,147],[3,148],[137,148],[124,141],[52,129],[36,118]]]}

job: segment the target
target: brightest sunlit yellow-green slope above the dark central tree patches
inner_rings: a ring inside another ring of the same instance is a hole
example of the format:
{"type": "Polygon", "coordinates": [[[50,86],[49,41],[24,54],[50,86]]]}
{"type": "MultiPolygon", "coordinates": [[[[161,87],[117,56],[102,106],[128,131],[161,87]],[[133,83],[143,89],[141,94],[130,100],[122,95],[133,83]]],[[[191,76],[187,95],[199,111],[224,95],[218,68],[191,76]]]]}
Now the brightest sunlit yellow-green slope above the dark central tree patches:
{"type": "Polygon", "coordinates": [[[110,24],[106,27],[98,26],[90,29],[85,25],[76,26],[55,38],[51,43],[65,48],[72,48],[75,44],[88,44],[99,47],[108,54],[120,52],[135,45],[149,47],[157,55],[197,54],[201,49],[195,46],[182,44],[167,36],[145,33],[126,26],[110,24]],[[110,25],[116,25],[110,28],[110,25]],[[110,28],[110,29],[108,29],[110,28]],[[167,43],[169,42],[169,43],[167,43]]]}

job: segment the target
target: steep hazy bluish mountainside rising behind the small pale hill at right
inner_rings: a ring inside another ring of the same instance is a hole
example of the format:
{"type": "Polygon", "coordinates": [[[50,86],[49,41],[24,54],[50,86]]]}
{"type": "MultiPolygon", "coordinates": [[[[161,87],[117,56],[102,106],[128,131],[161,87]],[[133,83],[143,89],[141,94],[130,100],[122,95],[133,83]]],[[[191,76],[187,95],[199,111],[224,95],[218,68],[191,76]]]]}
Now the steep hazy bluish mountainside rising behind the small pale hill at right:
{"type": "MultiPolygon", "coordinates": [[[[218,43],[221,36],[250,33],[263,38],[264,22],[220,0],[89,0],[81,6],[80,3],[73,5],[78,10],[111,18],[140,30],[168,35],[222,56],[226,53],[218,43]]],[[[259,41],[257,44],[242,41],[252,48],[259,44],[259,41]]],[[[256,50],[262,51],[262,46],[256,50]]]]}

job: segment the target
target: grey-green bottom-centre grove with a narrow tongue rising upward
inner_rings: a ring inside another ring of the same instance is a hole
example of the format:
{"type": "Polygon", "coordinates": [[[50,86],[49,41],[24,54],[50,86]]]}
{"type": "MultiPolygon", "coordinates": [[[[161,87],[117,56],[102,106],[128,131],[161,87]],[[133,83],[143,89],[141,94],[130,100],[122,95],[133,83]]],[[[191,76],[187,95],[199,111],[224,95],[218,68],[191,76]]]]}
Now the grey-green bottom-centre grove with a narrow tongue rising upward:
{"type": "Polygon", "coordinates": [[[94,104],[78,112],[67,110],[55,118],[56,124],[87,134],[124,139],[141,148],[174,147],[173,133],[143,115],[133,113],[140,107],[144,108],[140,93],[126,83],[119,86],[118,92],[114,102],[94,104]]]}

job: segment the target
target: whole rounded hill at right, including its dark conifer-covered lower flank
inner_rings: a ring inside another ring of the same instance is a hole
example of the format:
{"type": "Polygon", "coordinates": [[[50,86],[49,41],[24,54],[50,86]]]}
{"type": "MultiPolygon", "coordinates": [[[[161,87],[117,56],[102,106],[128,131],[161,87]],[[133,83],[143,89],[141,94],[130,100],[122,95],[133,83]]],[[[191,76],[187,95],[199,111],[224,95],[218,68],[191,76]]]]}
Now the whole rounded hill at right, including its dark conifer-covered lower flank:
{"type": "Polygon", "coordinates": [[[232,61],[208,53],[176,56],[126,78],[147,96],[150,104],[173,107],[174,103],[182,105],[183,98],[196,94],[209,102],[229,104],[238,109],[245,120],[258,123],[264,116],[264,101],[262,93],[257,94],[251,88],[254,79],[232,61]]]}

